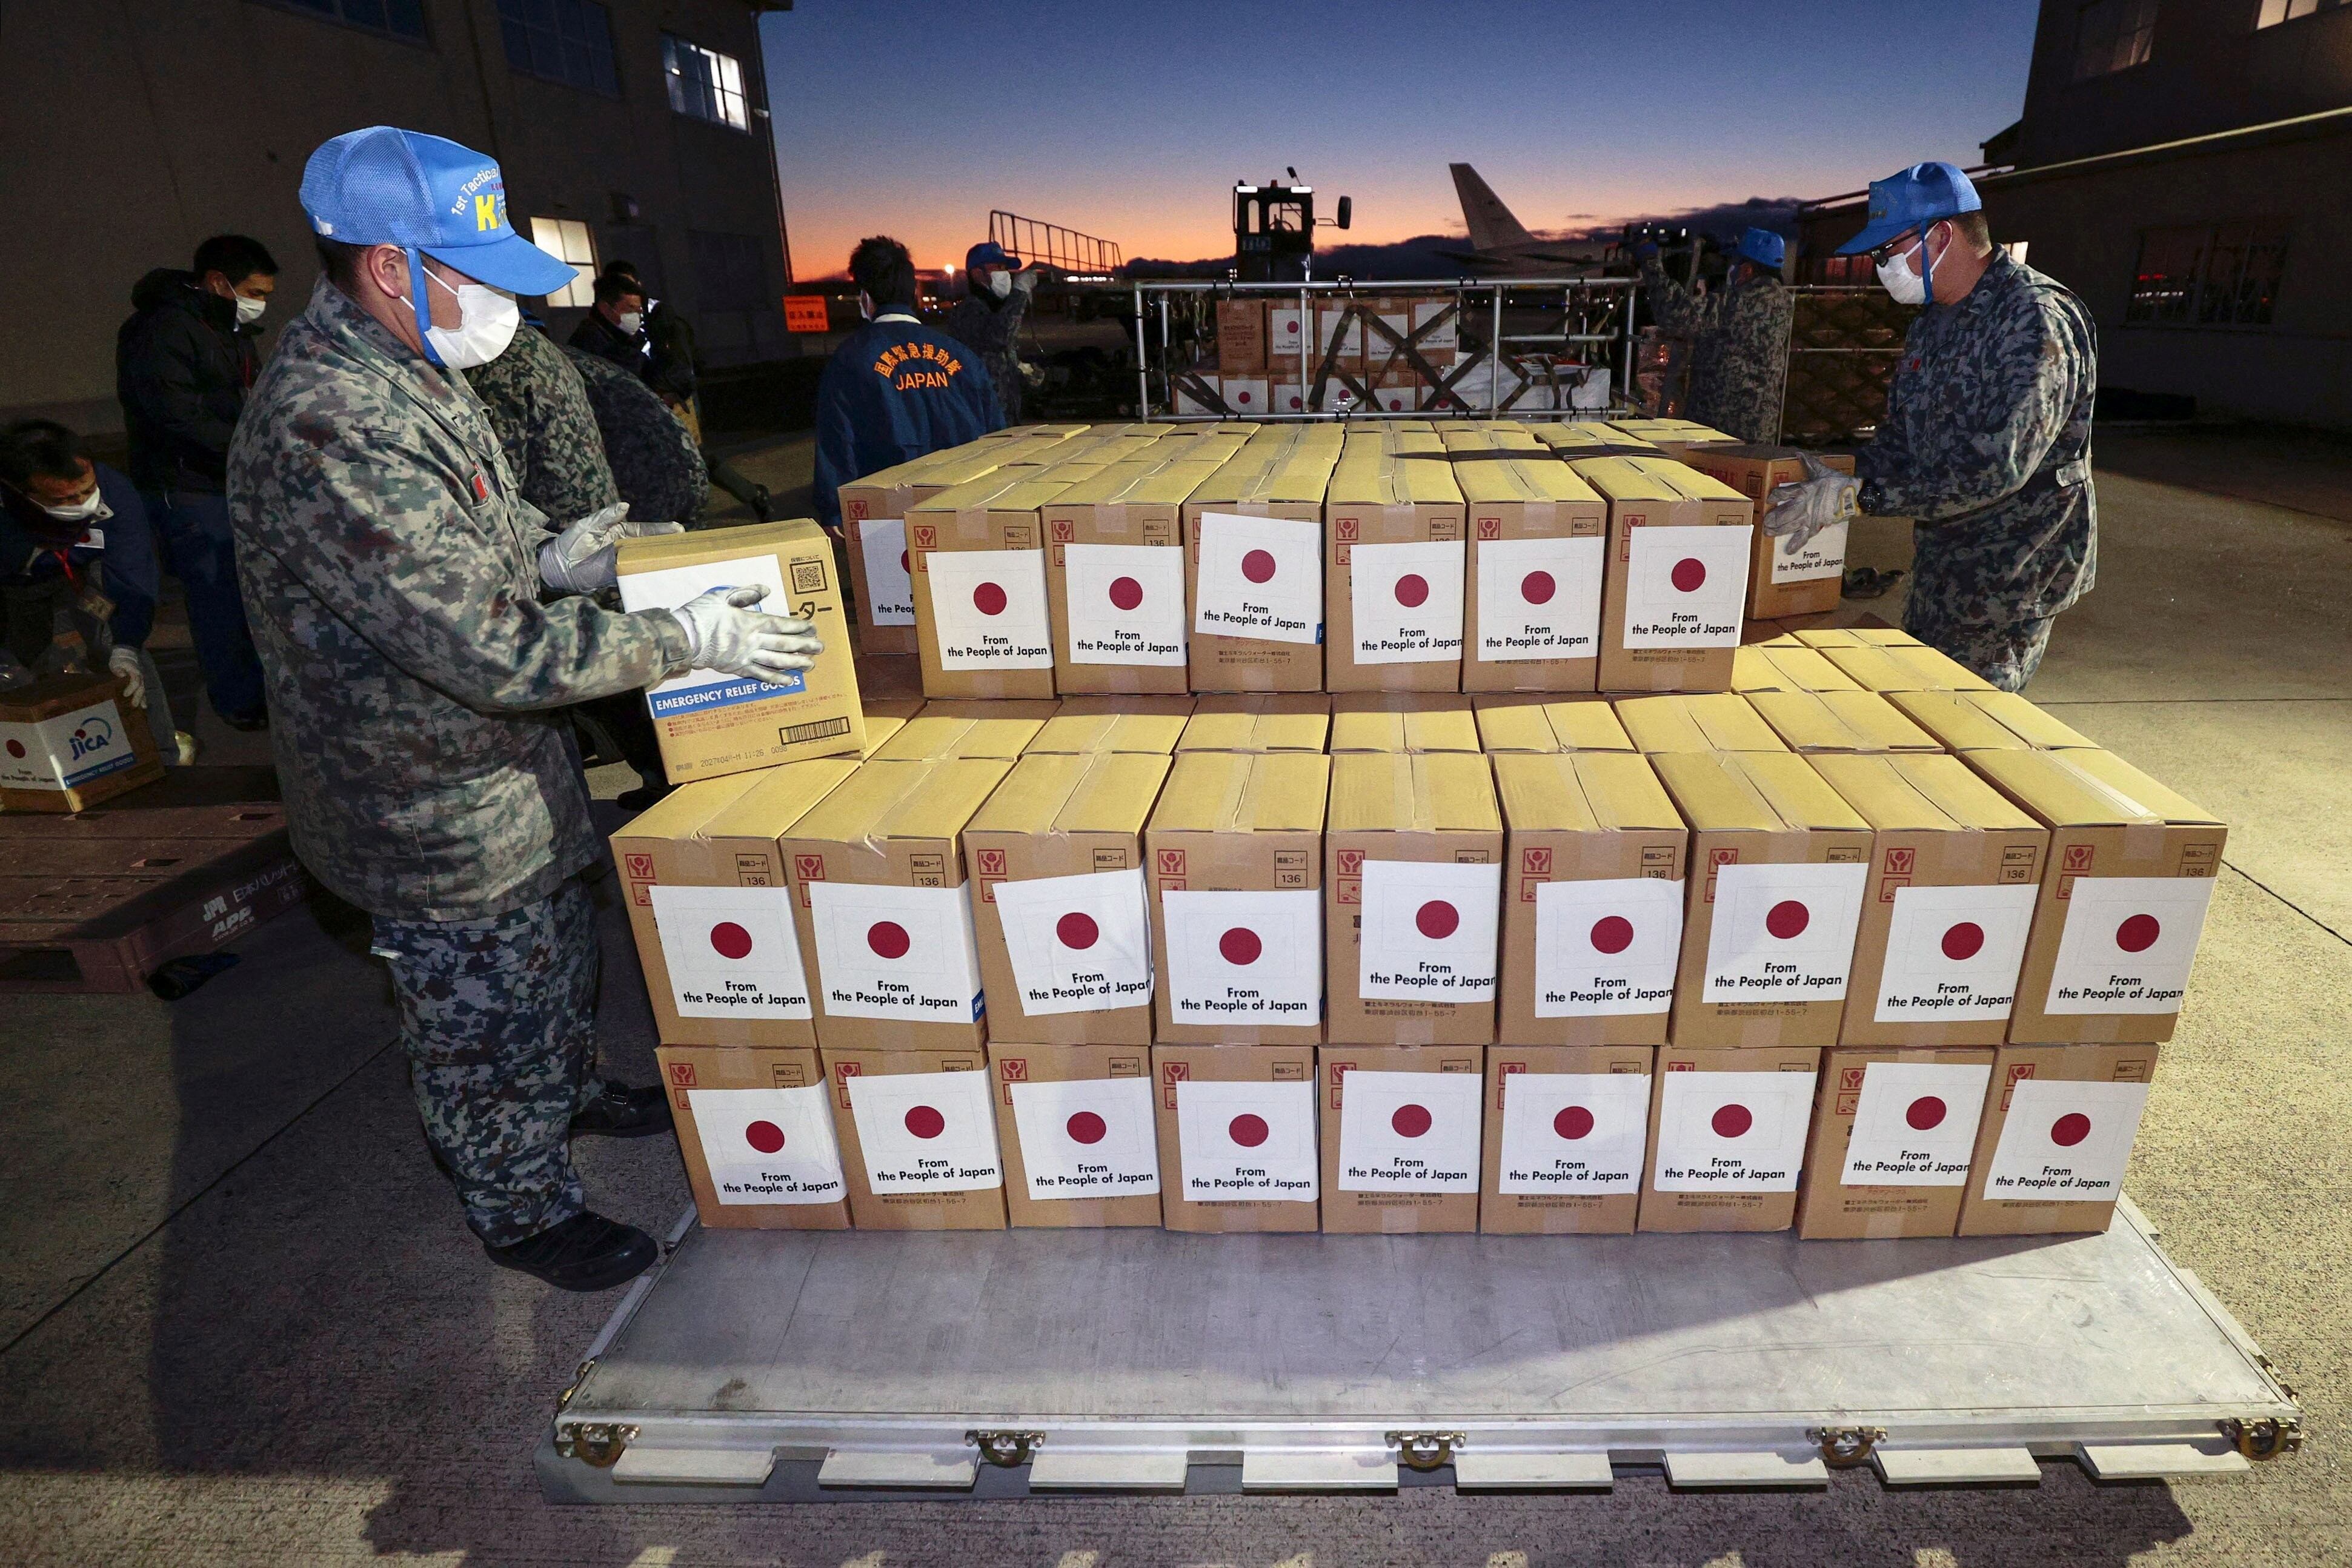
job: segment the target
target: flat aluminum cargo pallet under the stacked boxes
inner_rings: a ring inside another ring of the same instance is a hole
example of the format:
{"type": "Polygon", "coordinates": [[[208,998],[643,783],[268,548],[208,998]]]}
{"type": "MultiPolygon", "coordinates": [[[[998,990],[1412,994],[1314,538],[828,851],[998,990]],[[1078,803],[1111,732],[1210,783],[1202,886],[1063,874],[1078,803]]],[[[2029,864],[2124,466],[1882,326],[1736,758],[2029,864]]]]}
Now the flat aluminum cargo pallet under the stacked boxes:
{"type": "Polygon", "coordinates": [[[2293,1389],[2103,1237],[710,1232],[588,1347],[553,1502],[2227,1474],[2293,1389]]]}

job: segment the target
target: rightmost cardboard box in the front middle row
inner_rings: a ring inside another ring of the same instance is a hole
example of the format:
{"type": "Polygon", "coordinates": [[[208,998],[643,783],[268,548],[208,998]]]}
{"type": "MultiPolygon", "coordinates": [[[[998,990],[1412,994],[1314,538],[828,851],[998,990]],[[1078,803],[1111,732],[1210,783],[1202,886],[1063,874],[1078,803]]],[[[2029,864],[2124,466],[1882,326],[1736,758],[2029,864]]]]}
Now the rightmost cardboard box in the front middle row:
{"type": "Polygon", "coordinates": [[[2171,1039],[2230,830],[2112,752],[1962,762],[2051,830],[2009,1039],[2171,1039]]]}

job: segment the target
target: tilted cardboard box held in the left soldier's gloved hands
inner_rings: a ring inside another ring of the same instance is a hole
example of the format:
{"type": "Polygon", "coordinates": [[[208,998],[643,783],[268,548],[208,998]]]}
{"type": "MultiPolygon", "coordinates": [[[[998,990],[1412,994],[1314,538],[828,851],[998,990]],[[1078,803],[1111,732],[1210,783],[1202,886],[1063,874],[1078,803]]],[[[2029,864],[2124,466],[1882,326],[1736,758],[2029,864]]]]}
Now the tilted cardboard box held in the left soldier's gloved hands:
{"type": "Polygon", "coordinates": [[[621,541],[621,607],[677,609],[710,588],[764,585],[762,607],[816,625],[826,651],[790,679],[687,670],[644,693],[670,783],[866,750],[856,656],[833,536],[809,520],[621,541]]]}

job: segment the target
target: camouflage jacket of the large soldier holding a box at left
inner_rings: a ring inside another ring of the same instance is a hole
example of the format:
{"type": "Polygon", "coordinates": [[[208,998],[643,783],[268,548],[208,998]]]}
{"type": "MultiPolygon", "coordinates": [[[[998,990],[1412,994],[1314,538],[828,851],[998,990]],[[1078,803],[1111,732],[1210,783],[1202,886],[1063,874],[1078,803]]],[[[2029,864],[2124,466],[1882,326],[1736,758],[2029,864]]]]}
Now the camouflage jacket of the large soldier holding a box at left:
{"type": "Polygon", "coordinates": [[[602,853],[564,703],[687,665],[668,614],[541,604],[546,517],[482,404],[325,277],[228,447],[294,849],[393,919],[485,919],[602,853]]]}

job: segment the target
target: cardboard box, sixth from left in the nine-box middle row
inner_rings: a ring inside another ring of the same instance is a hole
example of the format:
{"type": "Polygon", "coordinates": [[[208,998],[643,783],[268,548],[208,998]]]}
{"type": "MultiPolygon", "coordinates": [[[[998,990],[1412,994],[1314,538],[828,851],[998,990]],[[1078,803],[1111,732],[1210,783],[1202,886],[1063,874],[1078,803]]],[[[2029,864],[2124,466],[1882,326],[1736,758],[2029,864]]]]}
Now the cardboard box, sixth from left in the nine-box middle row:
{"type": "Polygon", "coordinates": [[[1628,752],[1494,759],[1503,849],[1498,1037],[1515,1046],[1665,1041],[1691,835],[1628,752]]]}

